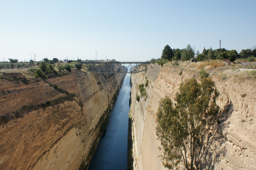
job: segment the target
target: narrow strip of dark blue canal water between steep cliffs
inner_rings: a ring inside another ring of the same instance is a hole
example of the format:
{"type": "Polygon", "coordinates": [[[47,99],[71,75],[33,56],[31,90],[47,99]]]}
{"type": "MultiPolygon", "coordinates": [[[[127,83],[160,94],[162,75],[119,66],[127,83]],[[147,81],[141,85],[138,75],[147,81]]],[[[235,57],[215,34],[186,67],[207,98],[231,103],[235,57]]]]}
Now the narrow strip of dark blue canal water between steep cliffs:
{"type": "Polygon", "coordinates": [[[110,111],[106,131],[101,136],[89,170],[126,170],[129,119],[130,74],[126,74],[117,101],[110,111]]]}

